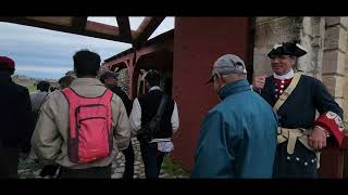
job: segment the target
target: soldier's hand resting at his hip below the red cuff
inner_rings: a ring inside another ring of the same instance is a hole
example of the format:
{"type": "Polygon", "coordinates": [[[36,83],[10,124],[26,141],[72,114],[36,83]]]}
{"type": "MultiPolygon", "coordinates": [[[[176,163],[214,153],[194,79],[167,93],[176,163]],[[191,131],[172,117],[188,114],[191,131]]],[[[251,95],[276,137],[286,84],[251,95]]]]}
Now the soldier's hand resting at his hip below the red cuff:
{"type": "Polygon", "coordinates": [[[308,138],[308,145],[315,151],[320,151],[326,146],[327,131],[315,126],[311,135],[308,138]]]}

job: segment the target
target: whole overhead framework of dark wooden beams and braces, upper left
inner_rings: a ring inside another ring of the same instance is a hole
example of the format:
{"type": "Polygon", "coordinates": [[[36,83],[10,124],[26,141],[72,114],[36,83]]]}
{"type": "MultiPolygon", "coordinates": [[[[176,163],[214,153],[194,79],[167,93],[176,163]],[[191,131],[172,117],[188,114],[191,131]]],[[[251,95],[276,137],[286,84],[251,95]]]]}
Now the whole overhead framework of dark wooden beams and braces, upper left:
{"type": "Polygon", "coordinates": [[[136,30],[130,29],[128,16],[115,16],[117,26],[105,25],[87,21],[83,17],[0,17],[0,22],[46,28],[57,31],[89,36],[125,43],[132,43],[134,48],[145,44],[165,17],[145,17],[136,30]]]}

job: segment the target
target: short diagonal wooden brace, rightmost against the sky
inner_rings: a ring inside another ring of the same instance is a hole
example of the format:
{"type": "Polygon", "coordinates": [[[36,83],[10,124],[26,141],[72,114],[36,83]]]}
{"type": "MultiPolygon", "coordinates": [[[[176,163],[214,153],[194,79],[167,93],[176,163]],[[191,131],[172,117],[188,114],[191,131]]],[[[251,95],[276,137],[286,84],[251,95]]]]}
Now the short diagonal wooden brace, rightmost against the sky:
{"type": "Polygon", "coordinates": [[[165,17],[145,17],[136,30],[135,46],[144,44],[165,17]]]}

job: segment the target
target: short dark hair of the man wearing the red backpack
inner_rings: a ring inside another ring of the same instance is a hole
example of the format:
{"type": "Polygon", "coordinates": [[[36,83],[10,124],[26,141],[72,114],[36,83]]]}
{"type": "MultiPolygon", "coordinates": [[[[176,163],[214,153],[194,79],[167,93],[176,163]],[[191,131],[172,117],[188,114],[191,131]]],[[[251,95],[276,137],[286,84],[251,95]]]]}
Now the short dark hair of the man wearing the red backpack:
{"type": "Polygon", "coordinates": [[[89,50],[80,50],[73,56],[74,69],[78,77],[97,76],[100,68],[100,56],[89,50]]]}

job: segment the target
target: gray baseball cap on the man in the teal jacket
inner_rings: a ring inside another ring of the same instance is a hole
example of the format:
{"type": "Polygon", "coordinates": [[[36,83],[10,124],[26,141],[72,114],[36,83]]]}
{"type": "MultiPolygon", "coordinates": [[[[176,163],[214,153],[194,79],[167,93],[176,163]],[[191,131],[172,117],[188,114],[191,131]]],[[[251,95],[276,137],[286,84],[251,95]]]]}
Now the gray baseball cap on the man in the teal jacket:
{"type": "Polygon", "coordinates": [[[247,74],[244,61],[235,54],[224,54],[219,57],[211,72],[211,77],[207,83],[212,82],[214,75],[229,75],[229,74],[247,74]]]}

